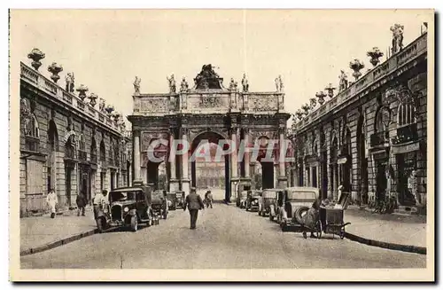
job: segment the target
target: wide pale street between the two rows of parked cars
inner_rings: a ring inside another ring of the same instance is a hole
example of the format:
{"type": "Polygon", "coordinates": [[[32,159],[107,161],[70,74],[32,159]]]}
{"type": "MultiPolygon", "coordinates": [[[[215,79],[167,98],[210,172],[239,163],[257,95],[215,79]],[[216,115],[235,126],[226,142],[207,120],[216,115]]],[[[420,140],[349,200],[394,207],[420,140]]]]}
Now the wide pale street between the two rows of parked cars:
{"type": "Polygon", "coordinates": [[[364,246],[348,239],[303,239],[282,232],[256,212],[215,203],[200,211],[197,230],[189,214],[172,212],[158,226],[93,235],[43,253],[21,257],[40,269],[201,268],[415,268],[426,255],[364,246]]]}

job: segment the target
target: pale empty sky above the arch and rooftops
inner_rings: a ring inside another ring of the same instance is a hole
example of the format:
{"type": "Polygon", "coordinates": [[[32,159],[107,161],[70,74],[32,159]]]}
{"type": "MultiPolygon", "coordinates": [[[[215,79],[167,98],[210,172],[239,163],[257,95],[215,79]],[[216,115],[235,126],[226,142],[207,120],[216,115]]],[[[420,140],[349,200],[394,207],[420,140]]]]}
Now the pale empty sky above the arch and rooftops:
{"type": "MultiPolygon", "coordinates": [[[[75,85],[89,87],[124,115],[132,112],[133,82],[141,78],[142,93],[168,91],[167,76],[190,85],[204,64],[250,91],[274,91],[284,80],[285,108],[294,113],[328,83],[338,87],[340,69],[353,80],[349,62],[366,52],[391,45],[394,23],[404,26],[405,46],[420,35],[424,13],[415,11],[12,11],[15,58],[26,64],[27,53],[46,54],[40,71],[57,62],[75,85]]],[[[19,69],[19,64],[11,64],[19,69]]]]}

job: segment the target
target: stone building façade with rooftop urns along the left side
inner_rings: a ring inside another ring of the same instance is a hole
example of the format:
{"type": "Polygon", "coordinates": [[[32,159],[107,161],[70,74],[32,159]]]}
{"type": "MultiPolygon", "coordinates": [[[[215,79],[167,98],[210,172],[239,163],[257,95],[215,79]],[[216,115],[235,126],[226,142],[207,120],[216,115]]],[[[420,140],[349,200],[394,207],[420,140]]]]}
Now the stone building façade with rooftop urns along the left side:
{"type": "Polygon", "coordinates": [[[52,64],[51,79],[38,68],[44,58],[33,50],[32,67],[20,63],[19,199],[20,214],[44,211],[53,188],[61,208],[75,207],[77,192],[90,201],[102,189],[130,184],[130,133],[120,114],[105,107],[81,85],[74,94],[74,74],[58,86],[63,69],[52,64]],[[89,102],[85,98],[89,99],[89,102]],[[107,110],[107,111],[106,111],[107,110]],[[128,144],[129,143],[129,144],[128,144]]]}

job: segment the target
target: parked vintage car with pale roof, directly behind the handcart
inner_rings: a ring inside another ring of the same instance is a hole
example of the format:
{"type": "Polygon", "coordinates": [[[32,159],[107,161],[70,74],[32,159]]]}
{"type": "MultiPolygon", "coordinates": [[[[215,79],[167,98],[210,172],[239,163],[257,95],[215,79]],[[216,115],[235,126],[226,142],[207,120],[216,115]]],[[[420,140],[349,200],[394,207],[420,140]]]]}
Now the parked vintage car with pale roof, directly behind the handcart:
{"type": "Polygon", "coordinates": [[[279,192],[276,220],[282,230],[288,226],[295,226],[302,231],[298,220],[303,219],[302,216],[307,214],[307,208],[311,208],[318,198],[319,190],[315,187],[288,187],[284,189],[284,192],[279,192]]]}

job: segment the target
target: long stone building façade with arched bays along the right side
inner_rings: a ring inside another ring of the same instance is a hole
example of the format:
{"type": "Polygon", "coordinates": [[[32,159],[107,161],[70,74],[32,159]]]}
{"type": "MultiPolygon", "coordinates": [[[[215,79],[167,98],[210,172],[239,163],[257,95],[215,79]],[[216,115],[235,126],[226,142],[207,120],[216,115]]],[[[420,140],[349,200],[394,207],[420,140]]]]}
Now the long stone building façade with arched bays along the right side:
{"type": "Polygon", "coordinates": [[[427,61],[424,33],[379,65],[371,59],[362,76],[360,62],[351,63],[356,80],[342,77],[337,96],[331,85],[317,93],[320,106],[311,99],[291,128],[290,182],[318,187],[324,198],[337,200],[343,185],[357,203],[391,196],[400,210],[425,208],[427,61]]]}

